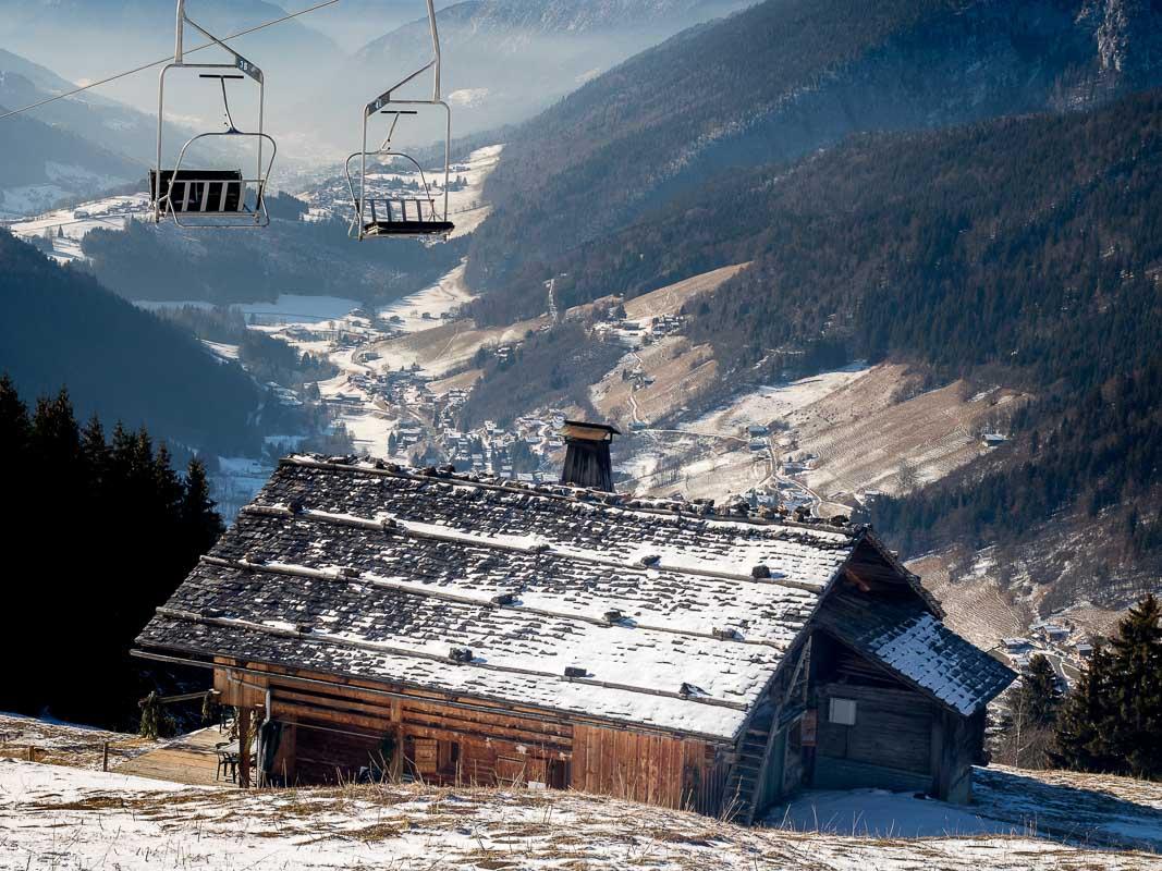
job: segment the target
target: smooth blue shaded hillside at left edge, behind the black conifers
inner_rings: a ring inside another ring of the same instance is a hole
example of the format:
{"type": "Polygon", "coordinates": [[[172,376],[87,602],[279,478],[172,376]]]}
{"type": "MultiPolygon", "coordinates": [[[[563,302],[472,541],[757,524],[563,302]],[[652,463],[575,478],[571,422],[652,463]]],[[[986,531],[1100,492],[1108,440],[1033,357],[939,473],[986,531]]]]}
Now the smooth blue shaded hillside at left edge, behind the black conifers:
{"type": "Polygon", "coordinates": [[[0,231],[0,361],[26,396],[67,386],[96,412],[188,448],[257,451],[253,381],[188,332],[0,231]]]}

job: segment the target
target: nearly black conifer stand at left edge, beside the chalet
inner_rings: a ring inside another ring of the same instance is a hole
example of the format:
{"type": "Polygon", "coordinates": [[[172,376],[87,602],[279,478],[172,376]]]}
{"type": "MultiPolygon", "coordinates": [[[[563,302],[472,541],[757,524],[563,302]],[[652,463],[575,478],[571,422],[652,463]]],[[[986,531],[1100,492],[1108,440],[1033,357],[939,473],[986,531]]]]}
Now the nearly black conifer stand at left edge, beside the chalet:
{"type": "Polygon", "coordinates": [[[206,473],[144,429],[80,425],[69,394],[29,405],[0,379],[6,675],[0,710],[136,728],[155,669],[134,638],[222,533],[206,473]]]}

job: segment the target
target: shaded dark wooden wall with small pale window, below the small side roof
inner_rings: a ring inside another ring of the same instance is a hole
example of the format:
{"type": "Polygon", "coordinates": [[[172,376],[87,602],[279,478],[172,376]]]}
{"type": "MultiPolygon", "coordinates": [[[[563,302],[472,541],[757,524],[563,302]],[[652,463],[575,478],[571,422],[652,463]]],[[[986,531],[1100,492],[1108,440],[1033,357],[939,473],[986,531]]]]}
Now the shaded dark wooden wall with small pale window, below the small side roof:
{"type": "Polygon", "coordinates": [[[817,789],[933,790],[933,722],[940,712],[925,697],[885,686],[824,684],[817,698],[817,789]],[[854,726],[830,721],[832,698],[855,700],[854,726]]]}

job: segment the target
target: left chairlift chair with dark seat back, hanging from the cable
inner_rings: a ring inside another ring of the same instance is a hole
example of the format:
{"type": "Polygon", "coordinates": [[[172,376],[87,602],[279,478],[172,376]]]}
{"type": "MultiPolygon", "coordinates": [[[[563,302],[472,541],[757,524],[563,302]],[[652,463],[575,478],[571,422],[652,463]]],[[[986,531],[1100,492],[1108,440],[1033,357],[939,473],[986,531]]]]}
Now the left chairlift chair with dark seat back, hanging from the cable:
{"type": "Polygon", "coordinates": [[[157,166],[149,173],[150,202],[153,223],[172,219],[178,226],[192,229],[236,228],[258,229],[271,223],[266,209],[266,186],[278,144],[263,129],[266,80],[263,71],[218,39],[214,34],[186,15],[186,0],[178,0],[177,39],[173,63],[162,70],[157,96],[157,166]],[[232,64],[189,64],[185,60],[185,26],[189,24],[234,57],[232,64]],[[181,146],[173,168],[163,167],[163,134],[165,129],[165,77],[171,70],[203,70],[199,78],[217,81],[222,88],[222,106],[227,129],[198,134],[181,146]],[[258,131],[239,130],[230,113],[227,82],[252,79],[258,84],[258,131]],[[228,137],[231,141],[252,139],[257,145],[258,164],[254,178],[246,178],[242,170],[194,170],[185,165],[189,146],[201,139],[228,137]],[[264,161],[264,146],[270,144],[270,159],[264,161]]]}

